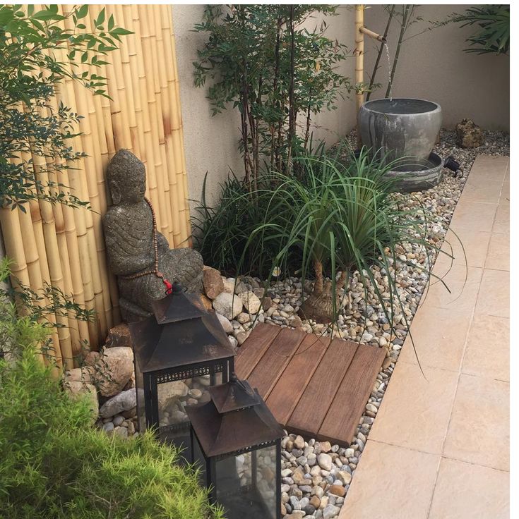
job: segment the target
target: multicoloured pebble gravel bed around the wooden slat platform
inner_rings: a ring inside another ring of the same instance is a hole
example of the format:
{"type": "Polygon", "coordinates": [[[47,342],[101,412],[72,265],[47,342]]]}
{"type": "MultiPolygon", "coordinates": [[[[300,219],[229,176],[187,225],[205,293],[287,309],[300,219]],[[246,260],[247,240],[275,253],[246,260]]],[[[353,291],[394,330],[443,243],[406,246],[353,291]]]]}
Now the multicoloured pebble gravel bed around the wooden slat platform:
{"type": "MultiPolygon", "coordinates": [[[[477,149],[462,149],[455,145],[455,132],[441,130],[441,139],[434,152],[441,157],[448,155],[460,162],[465,174],[462,178],[454,178],[453,173],[444,170],[443,180],[430,190],[402,196],[408,206],[423,204],[431,211],[434,220],[429,240],[440,245],[448,225],[451,222],[455,205],[459,200],[470,168],[477,154],[509,155],[509,135],[501,132],[485,132],[485,143],[477,149]]],[[[354,143],[354,133],[348,136],[354,143]]],[[[402,259],[417,264],[425,261],[422,250],[404,244],[400,250],[402,259]]],[[[434,261],[434,257],[429,257],[434,261]]],[[[377,284],[387,287],[383,271],[374,268],[377,284]]],[[[378,348],[386,348],[386,360],[378,373],[371,396],[366,402],[364,415],[352,438],[349,448],[330,445],[315,439],[290,434],[282,440],[282,508],[284,519],[335,519],[355,470],[362,457],[362,451],[369,437],[369,431],[376,413],[386,392],[388,381],[398,360],[400,349],[407,335],[407,322],[412,320],[419,305],[419,300],[426,289],[428,276],[417,269],[400,264],[396,273],[399,286],[398,297],[402,302],[403,312],[399,310],[393,315],[395,333],[391,334],[388,323],[378,300],[374,297],[374,289],[366,286],[368,298],[364,298],[364,286],[359,282],[358,273],[352,276],[347,304],[339,317],[339,330],[333,334],[378,348]]],[[[307,287],[309,288],[309,287],[307,287]]],[[[259,321],[270,321],[281,326],[302,328],[308,332],[330,334],[326,326],[312,322],[301,322],[296,315],[302,303],[302,283],[292,278],[278,281],[270,287],[269,295],[274,303],[266,312],[260,310],[259,321]]],[[[233,326],[235,321],[233,321],[233,326]]],[[[247,332],[234,328],[233,335],[247,332]]],[[[236,341],[241,343],[242,341],[236,341]]]]}

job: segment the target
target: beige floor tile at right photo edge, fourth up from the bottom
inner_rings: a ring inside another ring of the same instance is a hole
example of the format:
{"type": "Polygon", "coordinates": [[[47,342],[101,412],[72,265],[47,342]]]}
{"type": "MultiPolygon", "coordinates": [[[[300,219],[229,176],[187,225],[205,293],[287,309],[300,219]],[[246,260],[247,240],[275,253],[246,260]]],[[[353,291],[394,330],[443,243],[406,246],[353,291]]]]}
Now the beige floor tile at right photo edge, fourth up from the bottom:
{"type": "Polygon", "coordinates": [[[476,314],[510,316],[510,273],[484,269],[477,296],[476,314]]]}

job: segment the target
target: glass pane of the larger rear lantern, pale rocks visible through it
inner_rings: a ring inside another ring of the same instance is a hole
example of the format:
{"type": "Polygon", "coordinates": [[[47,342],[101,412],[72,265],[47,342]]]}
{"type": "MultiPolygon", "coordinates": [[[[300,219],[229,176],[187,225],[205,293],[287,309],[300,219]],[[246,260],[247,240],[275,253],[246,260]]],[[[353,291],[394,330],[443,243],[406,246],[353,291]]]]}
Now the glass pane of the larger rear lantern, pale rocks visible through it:
{"type": "MultiPolygon", "coordinates": [[[[210,401],[208,388],[213,384],[222,384],[222,372],[157,384],[159,430],[162,439],[177,446],[189,446],[189,418],[186,408],[210,401]]],[[[184,456],[191,454],[184,452],[184,456]]]]}

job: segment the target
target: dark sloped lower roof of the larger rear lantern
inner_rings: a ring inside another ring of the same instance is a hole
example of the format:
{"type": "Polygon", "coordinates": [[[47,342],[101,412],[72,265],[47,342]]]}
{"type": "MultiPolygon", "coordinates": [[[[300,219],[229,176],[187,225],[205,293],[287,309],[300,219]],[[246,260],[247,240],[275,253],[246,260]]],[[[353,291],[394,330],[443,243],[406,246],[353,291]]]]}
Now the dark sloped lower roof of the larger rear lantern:
{"type": "Polygon", "coordinates": [[[165,324],[159,324],[152,315],[128,326],[136,368],[143,373],[234,356],[229,338],[213,312],[165,324]]]}

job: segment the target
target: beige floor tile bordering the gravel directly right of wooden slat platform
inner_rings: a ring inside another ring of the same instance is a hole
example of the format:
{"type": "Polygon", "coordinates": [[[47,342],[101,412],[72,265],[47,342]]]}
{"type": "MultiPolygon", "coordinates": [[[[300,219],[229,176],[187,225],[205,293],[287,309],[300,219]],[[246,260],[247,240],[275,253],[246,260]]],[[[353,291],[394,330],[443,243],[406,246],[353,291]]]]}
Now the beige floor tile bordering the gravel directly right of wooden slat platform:
{"type": "Polygon", "coordinates": [[[370,439],[440,454],[458,373],[398,361],[370,439]]]}

